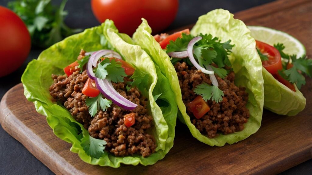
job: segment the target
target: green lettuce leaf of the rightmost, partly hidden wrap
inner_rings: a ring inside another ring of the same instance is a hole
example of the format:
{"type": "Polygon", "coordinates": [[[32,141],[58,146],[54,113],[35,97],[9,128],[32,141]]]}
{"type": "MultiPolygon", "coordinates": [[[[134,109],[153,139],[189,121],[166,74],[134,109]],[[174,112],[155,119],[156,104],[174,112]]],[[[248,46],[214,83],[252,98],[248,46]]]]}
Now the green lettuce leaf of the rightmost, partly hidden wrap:
{"type": "Polygon", "coordinates": [[[277,81],[265,68],[262,69],[264,79],[264,108],[280,115],[295,116],[305,109],[306,99],[297,86],[296,92],[277,81]]]}

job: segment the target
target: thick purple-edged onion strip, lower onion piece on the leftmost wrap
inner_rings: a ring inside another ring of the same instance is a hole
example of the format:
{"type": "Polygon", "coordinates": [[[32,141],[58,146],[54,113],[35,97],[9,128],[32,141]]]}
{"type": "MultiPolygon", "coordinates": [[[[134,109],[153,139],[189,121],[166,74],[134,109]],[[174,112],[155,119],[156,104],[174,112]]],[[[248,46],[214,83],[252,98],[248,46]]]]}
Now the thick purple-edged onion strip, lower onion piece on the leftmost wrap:
{"type": "Polygon", "coordinates": [[[108,99],[112,100],[116,105],[126,109],[133,110],[136,106],[133,102],[120,95],[113,87],[112,83],[107,79],[95,78],[96,87],[108,99]]]}

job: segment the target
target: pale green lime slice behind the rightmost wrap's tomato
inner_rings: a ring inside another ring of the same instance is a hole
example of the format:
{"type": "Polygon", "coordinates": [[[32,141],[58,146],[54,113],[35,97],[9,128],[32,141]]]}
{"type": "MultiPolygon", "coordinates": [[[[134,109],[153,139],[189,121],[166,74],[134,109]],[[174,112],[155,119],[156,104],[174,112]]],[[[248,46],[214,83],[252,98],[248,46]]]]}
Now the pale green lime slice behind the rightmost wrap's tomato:
{"type": "Polygon", "coordinates": [[[248,26],[248,28],[251,31],[251,36],[256,40],[269,45],[283,43],[285,46],[283,51],[286,54],[296,54],[297,58],[305,54],[305,46],[299,40],[285,32],[262,26],[248,26]]]}

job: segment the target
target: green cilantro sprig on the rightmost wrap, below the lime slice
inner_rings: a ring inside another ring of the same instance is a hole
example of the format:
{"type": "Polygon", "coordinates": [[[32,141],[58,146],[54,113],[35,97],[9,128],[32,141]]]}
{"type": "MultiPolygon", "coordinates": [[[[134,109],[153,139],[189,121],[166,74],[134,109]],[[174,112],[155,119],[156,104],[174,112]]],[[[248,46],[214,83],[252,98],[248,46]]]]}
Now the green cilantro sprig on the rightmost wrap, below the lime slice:
{"type": "Polygon", "coordinates": [[[302,85],[305,85],[305,77],[302,73],[309,77],[312,75],[312,59],[307,59],[305,55],[297,59],[295,54],[285,54],[283,52],[285,46],[281,43],[274,44],[274,47],[280,52],[282,58],[287,59],[287,64],[292,64],[290,69],[287,69],[287,64],[284,64],[283,69],[279,70],[278,73],[290,83],[295,83],[300,89],[302,85]]]}

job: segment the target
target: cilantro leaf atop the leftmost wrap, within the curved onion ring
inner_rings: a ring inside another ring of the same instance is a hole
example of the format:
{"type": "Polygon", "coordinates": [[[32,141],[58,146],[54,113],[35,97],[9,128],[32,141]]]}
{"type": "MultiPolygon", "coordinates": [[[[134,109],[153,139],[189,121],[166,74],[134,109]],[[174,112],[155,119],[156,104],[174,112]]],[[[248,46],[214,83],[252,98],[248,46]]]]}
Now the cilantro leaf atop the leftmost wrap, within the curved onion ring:
{"type": "Polygon", "coordinates": [[[100,79],[107,78],[114,83],[118,83],[124,82],[124,77],[127,74],[124,72],[124,68],[121,67],[120,61],[104,59],[95,69],[95,76],[100,79]]]}

